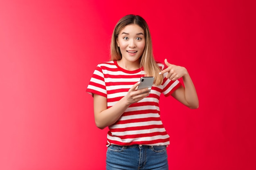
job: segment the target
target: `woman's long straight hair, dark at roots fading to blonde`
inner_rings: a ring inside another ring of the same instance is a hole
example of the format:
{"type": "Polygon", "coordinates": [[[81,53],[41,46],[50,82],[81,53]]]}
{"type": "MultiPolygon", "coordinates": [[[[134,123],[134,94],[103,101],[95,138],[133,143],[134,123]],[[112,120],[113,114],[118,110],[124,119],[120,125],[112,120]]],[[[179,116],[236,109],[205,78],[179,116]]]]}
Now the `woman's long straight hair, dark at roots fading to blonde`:
{"type": "Polygon", "coordinates": [[[140,66],[144,68],[146,76],[155,77],[154,83],[156,85],[162,84],[163,76],[159,75],[159,72],[161,71],[161,69],[157,65],[155,58],[153,56],[152,40],[151,40],[148,24],[139,15],[126,15],[117,22],[111,38],[110,61],[121,60],[122,54],[119,47],[117,46],[117,38],[120,31],[126,25],[129,25],[129,24],[137,24],[145,32],[145,48],[140,57],[140,66]]]}

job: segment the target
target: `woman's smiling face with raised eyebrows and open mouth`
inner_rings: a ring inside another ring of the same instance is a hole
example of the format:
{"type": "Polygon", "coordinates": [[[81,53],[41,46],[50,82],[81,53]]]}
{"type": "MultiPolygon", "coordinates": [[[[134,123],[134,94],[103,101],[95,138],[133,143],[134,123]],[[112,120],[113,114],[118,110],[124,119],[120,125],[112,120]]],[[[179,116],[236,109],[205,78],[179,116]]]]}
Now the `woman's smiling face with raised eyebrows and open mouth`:
{"type": "Polygon", "coordinates": [[[122,59],[125,62],[139,62],[145,48],[144,30],[137,24],[126,25],[117,38],[122,59]]]}

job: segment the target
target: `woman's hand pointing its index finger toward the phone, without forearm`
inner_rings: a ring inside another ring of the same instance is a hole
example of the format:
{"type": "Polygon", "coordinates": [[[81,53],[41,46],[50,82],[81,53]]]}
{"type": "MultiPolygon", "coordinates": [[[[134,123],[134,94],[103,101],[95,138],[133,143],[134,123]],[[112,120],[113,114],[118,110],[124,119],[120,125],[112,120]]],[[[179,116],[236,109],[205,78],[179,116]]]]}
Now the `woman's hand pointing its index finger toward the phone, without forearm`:
{"type": "Polygon", "coordinates": [[[164,63],[166,66],[168,66],[166,69],[162,70],[159,74],[166,74],[166,78],[170,80],[177,80],[180,77],[183,77],[184,75],[188,74],[188,71],[186,70],[185,67],[182,66],[176,66],[174,64],[170,64],[167,62],[167,59],[164,60],[164,63]]]}

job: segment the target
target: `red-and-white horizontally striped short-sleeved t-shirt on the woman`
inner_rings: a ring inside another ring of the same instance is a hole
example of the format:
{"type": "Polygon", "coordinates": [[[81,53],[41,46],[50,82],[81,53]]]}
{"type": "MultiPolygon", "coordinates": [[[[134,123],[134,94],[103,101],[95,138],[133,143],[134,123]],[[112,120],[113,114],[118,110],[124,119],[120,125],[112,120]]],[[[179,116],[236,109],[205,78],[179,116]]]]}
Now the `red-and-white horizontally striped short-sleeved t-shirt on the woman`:
{"type": "MultiPolygon", "coordinates": [[[[164,64],[157,62],[161,70],[164,64]]],[[[128,71],[118,66],[117,61],[98,64],[87,87],[87,92],[107,98],[107,106],[115,105],[128,90],[144,76],[143,68],[128,71]]],[[[164,74],[165,76],[165,74],[164,74]]],[[[107,146],[169,145],[167,134],[160,119],[160,94],[169,96],[181,83],[164,77],[160,86],[153,84],[150,95],[131,104],[115,124],[109,126],[107,146]]]]}

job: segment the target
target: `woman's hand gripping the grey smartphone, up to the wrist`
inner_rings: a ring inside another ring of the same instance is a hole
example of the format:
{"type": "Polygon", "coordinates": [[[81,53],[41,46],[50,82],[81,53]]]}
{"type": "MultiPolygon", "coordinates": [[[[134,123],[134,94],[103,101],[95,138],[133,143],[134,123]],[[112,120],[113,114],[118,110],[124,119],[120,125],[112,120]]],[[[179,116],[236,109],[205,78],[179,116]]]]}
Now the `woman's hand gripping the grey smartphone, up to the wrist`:
{"type": "Polygon", "coordinates": [[[128,91],[127,95],[124,96],[128,104],[139,102],[150,94],[151,88],[138,89],[140,82],[135,83],[128,91]]]}

